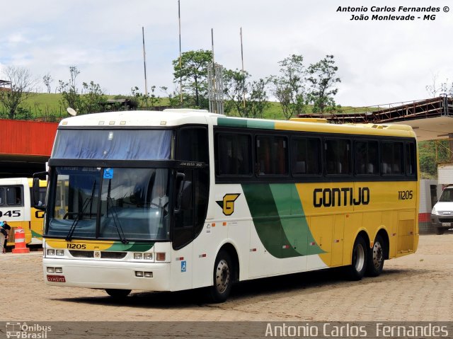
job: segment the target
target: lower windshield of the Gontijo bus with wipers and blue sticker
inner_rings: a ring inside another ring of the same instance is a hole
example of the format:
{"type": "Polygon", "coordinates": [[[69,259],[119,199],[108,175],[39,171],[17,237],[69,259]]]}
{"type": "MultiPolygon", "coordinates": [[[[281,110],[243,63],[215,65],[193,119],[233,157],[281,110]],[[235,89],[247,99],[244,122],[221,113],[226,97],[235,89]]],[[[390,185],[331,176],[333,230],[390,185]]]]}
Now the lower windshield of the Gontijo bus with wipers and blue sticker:
{"type": "Polygon", "coordinates": [[[47,236],[166,240],[168,168],[55,167],[47,236]]]}

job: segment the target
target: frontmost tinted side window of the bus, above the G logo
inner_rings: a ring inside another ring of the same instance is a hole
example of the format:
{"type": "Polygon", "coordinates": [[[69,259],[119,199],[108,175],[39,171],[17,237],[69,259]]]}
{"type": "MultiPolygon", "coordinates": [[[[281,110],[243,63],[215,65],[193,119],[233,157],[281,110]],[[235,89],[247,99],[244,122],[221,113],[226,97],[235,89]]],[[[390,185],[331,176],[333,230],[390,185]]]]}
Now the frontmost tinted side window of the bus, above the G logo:
{"type": "Polygon", "coordinates": [[[249,135],[219,133],[216,142],[217,176],[251,175],[251,137],[249,135]]]}

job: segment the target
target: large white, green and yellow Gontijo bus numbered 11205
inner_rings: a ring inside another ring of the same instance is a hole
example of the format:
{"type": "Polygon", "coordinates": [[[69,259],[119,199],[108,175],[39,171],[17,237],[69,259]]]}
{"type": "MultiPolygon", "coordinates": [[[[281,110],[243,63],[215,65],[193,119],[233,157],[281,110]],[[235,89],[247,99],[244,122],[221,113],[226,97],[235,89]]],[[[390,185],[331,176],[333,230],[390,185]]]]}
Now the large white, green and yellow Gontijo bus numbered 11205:
{"type": "Polygon", "coordinates": [[[260,277],[377,276],[417,249],[418,172],[404,125],[69,117],[46,172],[44,278],[113,297],[205,287],[219,302],[260,277]]]}

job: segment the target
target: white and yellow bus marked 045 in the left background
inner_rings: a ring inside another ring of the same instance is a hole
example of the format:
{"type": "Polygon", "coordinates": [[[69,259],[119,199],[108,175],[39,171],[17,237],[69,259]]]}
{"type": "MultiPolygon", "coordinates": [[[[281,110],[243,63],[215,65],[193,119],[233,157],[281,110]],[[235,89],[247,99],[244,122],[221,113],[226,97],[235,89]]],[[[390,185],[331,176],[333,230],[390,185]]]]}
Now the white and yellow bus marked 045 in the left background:
{"type": "MultiPolygon", "coordinates": [[[[32,207],[30,188],[31,178],[0,179],[0,221],[11,226],[6,246],[14,246],[14,231],[22,227],[27,245],[42,244],[44,212],[32,207]]],[[[40,180],[40,202],[44,203],[47,181],[40,180]]]]}

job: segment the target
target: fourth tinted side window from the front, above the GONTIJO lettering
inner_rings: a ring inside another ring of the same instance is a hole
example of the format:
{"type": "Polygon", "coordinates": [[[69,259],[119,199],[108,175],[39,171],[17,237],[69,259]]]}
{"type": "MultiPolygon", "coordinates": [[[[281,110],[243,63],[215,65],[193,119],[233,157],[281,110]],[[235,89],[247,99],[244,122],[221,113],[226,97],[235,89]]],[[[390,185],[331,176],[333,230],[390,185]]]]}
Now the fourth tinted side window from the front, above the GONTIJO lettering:
{"type": "Polygon", "coordinates": [[[326,174],[350,174],[350,141],[329,139],[325,141],[326,174]]]}

